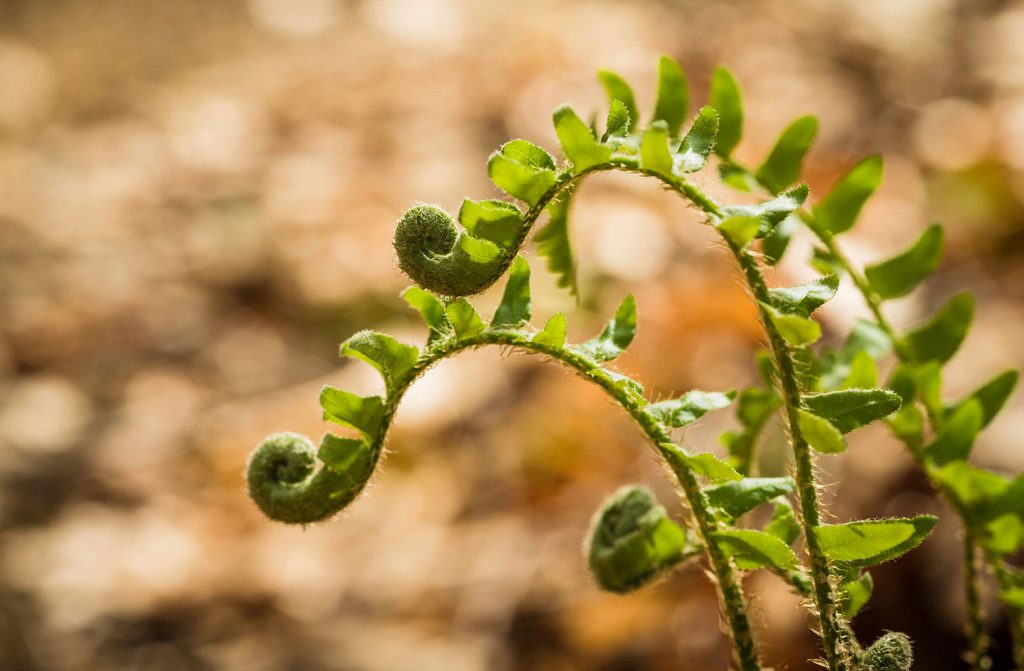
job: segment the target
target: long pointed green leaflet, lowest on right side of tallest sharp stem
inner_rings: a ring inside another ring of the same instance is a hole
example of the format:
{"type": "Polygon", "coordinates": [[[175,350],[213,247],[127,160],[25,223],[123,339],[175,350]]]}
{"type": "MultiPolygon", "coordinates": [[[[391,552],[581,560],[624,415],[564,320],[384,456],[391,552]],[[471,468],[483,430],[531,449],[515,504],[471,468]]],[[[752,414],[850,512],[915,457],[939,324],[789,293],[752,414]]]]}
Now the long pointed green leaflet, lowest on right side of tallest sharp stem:
{"type": "Polygon", "coordinates": [[[845,525],[824,525],[813,530],[818,546],[828,558],[857,567],[895,559],[921,545],[938,517],[894,517],[845,525]]]}

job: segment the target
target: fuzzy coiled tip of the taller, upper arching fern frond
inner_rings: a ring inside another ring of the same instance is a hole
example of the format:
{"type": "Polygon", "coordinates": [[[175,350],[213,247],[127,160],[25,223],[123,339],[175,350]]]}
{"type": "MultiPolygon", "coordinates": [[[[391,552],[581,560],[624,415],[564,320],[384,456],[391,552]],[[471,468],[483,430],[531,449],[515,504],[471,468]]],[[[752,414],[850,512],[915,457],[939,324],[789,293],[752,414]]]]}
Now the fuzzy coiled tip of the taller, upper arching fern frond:
{"type": "Polygon", "coordinates": [[[434,205],[417,205],[398,219],[394,250],[402,272],[445,296],[480,293],[505,272],[513,257],[489,240],[459,230],[451,215],[434,205]]]}

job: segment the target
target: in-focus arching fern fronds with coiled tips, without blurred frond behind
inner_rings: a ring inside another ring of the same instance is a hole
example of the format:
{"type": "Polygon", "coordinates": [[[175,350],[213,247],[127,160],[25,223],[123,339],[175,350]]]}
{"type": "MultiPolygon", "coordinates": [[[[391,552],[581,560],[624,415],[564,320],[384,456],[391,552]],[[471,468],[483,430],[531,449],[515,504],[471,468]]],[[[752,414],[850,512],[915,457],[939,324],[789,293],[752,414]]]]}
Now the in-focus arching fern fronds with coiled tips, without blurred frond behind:
{"type": "MultiPolygon", "coordinates": [[[[767,251],[790,225],[808,197],[805,185],[790,187],[802,155],[776,151],[759,174],[778,188],[767,201],[720,205],[697,188],[688,174],[703,168],[715,150],[728,157],[741,135],[738,90],[724,71],[715,75],[712,106],[702,108],[682,132],[687,118],[685,77],[671,58],[658,69],[657,101],[650,123],[637,129],[638,108],[629,85],[613,73],[601,73],[609,94],[603,131],[588,126],[567,106],[554,113],[554,125],[566,162],[559,166],[547,151],[511,140],[492,155],[492,180],[525,209],[500,200],[464,201],[459,224],[440,208],[417,205],[402,216],[395,233],[401,268],[418,284],[406,300],[429,329],[424,350],[390,336],[360,332],[342,344],[343,355],[373,365],[384,378],[383,396],[357,396],[328,387],[321,395],[325,419],[354,428],[358,437],[324,437],[314,448],[300,436],[276,434],[254,453],[249,468],[253,498],[264,512],[283,521],[305,523],[329,517],[357,496],[380,457],[395,410],[413,381],[435,362],[464,349],[496,344],[545,354],[607,392],[638,423],[675,474],[691,512],[688,530],[668,519],[649,493],[628,488],[595,517],[589,561],[599,584],[628,591],[649,582],[684,558],[703,554],[718,584],[721,611],[736,665],[760,668],[746,616],[740,576],[767,568],[806,596],[818,618],[825,663],[831,671],[909,668],[909,643],[889,634],[862,651],[848,619],[869,595],[870,576],[863,569],[893,559],[919,545],[936,519],[859,520],[824,525],[814,480],[814,451],[846,449],[844,434],[886,417],[901,396],[873,381],[817,391],[804,373],[815,360],[811,345],[821,335],[812,312],[838,288],[839,276],[825,275],[799,287],[769,288],[764,280],[760,245],[767,251]],[[717,110],[717,111],[716,111],[717,110]],[[717,141],[717,144],[716,144],[717,141]],[[796,162],[796,166],[794,163],[796,162]],[[568,213],[574,186],[586,175],[623,171],[657,179],[698,207],[721,236],[757,302],[770,352],[762,359],[764,386],[739,395],[738,432],[724,436],[733,468],[711,454],[691,454],[673,439],[673,431],[706,412],[729,405],[734,394],[691,391],[649,403],[639,383],[607,368],[629,345],[636,330],[636,305],[628,297],[604,331],[593,340],[565,344],[565,318],[550,318],[541,330],[530,319],[526,261],[518,256],[530,229],[545,213],[537,234],[539,251],[558,276],[559,285],[577,292],[568,238],[568,213]],[[508,274],[501,305],[484,325],[464,296],[477,293],[508,274]],[[781,408],[795,457],[795,477],[751,477],[754,447],[767,418],[781,408]],[[701,485],[701,480],[706,484],[701,485]],[[787,500],[792,492],[797,511],[787,500]],[[751,529],[744,515],[761,504],[774,513],[763,529],[751,529]],[[806,561],[793,546],[803,536],[806,561]]],[[[727,180],[742,173],[722,164],[727,180]],[[729,172],[729,171],[732,172],[729,172]]]]}

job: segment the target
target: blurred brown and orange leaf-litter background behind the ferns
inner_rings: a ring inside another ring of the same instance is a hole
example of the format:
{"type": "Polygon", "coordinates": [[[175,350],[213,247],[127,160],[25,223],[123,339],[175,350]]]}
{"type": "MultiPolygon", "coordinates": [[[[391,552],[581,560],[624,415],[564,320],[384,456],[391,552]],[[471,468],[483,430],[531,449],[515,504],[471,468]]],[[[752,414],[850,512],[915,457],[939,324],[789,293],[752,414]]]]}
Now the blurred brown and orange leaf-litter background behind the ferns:
{"type": "MultiPolygon", "coordinates": [[[[336,357],[352,332],[424,337],[390,246],[407,207],[497,196],[487,154],[514,136],[557,146],[558,103],[603,107],[598,68],[649,109],[660,53],[697,103],[714,66],[732,69],[749,162],[817,114],[812,193],[884,153],[850,253],[943,221],[938,276],[893,319],[970,289],[947,392],[1021,367],[1022,34],[1024,3],[980,0],[0,2],[0,668],[727,668],[699,565],[628,597],[588,578],[606,494],[641,481],[679,507],[639,431],[553,366],[438,366],[382,472],[329,523],[264,519],[247,455],[273,430],[326,430],[323,384],[379,390],[336,357]]],[[[755,314],[697,215],[610,175],[577,203],[582,301],[535,262],[538,321],[565,310],[584,339],[632,291],[640,335],[618,367],[652,395],[751,382],[755,314]]],[[[808,249],[772,281],[806,280],[808,249]]],[[[826,341],[863,312],[841,292],[826,341]]],[[[720,450],[732,424],[715,413],[686,439],[720,450]]],[[[1020,470],[1022,434],[1017,394],[977,461],[1020,470]]],[[[884,428],[851,443],[822,460],[836,518],[945,512],[884,428]]],[[[782,448],[774,427],[764,473],[784,471],[782,448]]],[[[953,519],[874,572],[856,623],[865,640],[909,632],[921,669],[959,668],[953,519]]],[[[812,668],[799,601],[767,575],[748,587],[767,661],[812,668]]]]}

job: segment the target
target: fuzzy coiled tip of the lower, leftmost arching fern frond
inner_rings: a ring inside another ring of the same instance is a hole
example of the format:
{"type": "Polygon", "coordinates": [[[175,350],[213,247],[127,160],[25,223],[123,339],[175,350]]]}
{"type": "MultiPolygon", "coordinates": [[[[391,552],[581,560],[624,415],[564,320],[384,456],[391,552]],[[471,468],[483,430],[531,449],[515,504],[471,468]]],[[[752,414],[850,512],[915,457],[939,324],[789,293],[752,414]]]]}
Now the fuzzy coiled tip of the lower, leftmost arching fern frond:
{"type": "Polygon", "coordinates": [[[327,519],[358,496],[376,463],[367,443],[330,433],[318,454],[325,465],[315,470],[316,448],[298,433],[272,433],[256,446],[246,481],[267,517],[292,525],[327,519]]]}

